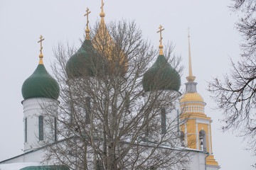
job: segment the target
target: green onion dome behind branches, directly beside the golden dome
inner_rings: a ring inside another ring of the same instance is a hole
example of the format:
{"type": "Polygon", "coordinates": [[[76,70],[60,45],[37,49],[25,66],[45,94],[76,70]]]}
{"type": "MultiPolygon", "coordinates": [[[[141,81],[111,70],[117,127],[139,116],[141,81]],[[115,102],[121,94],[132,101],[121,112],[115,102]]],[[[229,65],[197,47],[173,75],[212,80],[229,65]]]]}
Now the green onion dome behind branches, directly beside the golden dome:
{"type": "Polygon", "coordinates": [[[68,60],[66,72],[69,78],[94,77],[104,66],[105,60],[95,50],[91,40],[85,40],[75,55],[68,60]]]}

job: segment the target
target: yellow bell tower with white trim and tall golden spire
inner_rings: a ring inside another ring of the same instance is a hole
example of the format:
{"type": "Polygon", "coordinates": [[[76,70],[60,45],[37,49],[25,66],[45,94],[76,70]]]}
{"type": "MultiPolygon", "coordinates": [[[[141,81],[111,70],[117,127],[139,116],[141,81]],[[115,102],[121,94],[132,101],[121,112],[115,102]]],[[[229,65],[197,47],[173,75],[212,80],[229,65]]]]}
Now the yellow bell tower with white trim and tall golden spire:
{"type": "Polygon", "coordinates": [[[213,145],[211,140],[212,120],[206,116],[204,107],[206,103],[196,91],[196,77],[192,74],[190,35],[188,30],[188,67],[189,74],[186,79],[186,94],[181,97],[181,137],[182,145],[191,149],[208,152],[206,167],[220,169],[218,162],[213,157],[213,145]]]}

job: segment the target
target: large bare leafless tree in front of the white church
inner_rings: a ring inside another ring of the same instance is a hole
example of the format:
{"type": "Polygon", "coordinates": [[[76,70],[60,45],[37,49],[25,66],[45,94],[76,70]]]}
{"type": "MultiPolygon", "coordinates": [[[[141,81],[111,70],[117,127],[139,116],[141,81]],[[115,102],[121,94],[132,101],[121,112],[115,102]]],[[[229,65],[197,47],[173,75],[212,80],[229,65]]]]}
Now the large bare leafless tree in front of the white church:
{"type": "Polygon", "coordinates": [[[88,35],[77,52],[62,45],[55,50],[58,114],[42,107],[50,117],[46,124],[54,128],[58,123],[58,142],[46,147],[46,162],[77,170],[186,166],[188,152],[181,149],[176,108],[180,93],[163,89],[170,80],[161,74],[168,60],[180,72],[180,57],[166,47],[167,60],[156,67],[145,92],[142,79],[157,53],[134,22],[99,23],[91,40],[88,35]]]}

